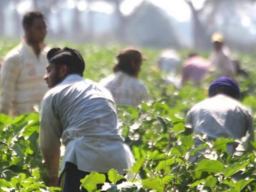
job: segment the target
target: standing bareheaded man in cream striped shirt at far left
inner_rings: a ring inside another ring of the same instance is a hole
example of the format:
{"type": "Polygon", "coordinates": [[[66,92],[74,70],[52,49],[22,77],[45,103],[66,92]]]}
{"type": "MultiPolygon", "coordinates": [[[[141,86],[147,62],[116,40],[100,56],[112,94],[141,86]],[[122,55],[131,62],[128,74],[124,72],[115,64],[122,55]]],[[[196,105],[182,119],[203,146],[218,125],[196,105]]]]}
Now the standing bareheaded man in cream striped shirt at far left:
{"type": "Polygon", "coordinates": [[[10,51],[1,68],[0,113],[19,116],[31,113],[40,105],[47,86],[44,73],[49,48],[44,44],[46,25],[41,12],[25,14],[22,20],[25,36],[10,51]]]}

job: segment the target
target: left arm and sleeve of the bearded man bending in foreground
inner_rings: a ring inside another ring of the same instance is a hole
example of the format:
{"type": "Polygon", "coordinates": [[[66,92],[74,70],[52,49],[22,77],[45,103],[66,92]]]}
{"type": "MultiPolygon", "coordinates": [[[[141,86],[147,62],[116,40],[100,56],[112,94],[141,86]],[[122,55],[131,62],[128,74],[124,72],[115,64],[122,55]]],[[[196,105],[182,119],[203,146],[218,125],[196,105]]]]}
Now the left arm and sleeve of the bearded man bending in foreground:
{"type": "Polygon", "coordinates": [[[60,165],[60,138],[62,128],[54,112],[52,95],[46,96],[41,103],[39,145],[43,164],[49,178],[57,178],[60,165]]]}

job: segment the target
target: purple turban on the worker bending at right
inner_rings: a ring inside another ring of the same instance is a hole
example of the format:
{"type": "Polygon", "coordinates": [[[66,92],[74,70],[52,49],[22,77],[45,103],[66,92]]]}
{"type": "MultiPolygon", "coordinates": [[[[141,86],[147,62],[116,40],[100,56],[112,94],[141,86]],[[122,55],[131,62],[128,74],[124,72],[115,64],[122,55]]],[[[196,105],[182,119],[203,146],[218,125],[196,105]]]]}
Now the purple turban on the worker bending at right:
{"type": "Polygon", "coordinates": [[[231,90],[233,90],[235,92],[237,98],[240,97],[240,90],[239,90],[239,86],[236,83],[236,81],[229,77],[225,77],[225,76],[220,77],[211,83],[211,85],[208,89],[208,95],[211,95],[212,92],[214,92],[217,88],[220,88],[222,86],[226,86],[226,87],[230,88],[231,90]]]}

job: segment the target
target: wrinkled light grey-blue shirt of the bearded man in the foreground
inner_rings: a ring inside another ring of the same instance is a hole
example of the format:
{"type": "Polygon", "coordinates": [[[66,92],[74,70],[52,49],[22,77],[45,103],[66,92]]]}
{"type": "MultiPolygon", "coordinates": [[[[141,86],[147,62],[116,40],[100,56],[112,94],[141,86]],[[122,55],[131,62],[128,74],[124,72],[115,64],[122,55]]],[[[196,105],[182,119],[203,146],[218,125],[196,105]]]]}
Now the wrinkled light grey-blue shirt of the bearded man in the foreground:
{"type": "Polygon", "coordinates": [[[124,174],[134,162],[118,134],[110,92],[78,75],[69,75],[50,89],[41,104],[39,141],[50,178],[58,175],[52,157],[59,153],[60,139],[66,147],[61,172],[65,162],[71,162],[85,172],[107,173],[114,168],[124,174]]]}

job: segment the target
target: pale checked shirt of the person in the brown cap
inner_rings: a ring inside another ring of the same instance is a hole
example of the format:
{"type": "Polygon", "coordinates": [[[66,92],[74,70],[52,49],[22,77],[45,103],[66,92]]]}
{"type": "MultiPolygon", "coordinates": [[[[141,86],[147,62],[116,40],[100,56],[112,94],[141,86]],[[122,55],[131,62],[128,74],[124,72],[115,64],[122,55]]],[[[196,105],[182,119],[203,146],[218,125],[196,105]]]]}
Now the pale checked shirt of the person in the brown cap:
{"type": "Polygon", "coordinates": [[[121,71],[102,79],[100,84],[112,93],[117,105],[137,107],[141,101],[148,100],[146,86],[121,71]]]}

